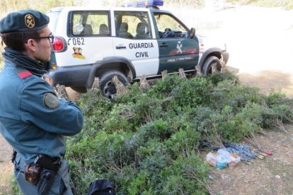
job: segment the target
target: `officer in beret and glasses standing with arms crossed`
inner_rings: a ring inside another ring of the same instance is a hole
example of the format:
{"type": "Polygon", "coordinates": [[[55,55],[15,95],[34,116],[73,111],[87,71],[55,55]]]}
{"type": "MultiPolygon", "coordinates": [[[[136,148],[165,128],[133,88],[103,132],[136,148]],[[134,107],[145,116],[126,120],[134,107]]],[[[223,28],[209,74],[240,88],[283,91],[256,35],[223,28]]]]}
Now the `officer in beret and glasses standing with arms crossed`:
{"type": "Polygon", "coordinates": [[[39,11],[9,13],[0,21],[4,69],[0,73],[0,132],[14,153],[15,177],[23,194],[72,194],[65,138],[84,124],[79,107],[57,98],[42,80],[54,39],[49,18],[39,11]]]}

